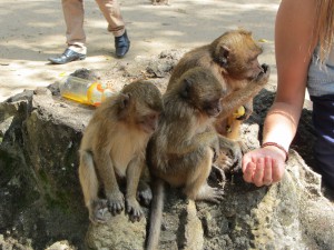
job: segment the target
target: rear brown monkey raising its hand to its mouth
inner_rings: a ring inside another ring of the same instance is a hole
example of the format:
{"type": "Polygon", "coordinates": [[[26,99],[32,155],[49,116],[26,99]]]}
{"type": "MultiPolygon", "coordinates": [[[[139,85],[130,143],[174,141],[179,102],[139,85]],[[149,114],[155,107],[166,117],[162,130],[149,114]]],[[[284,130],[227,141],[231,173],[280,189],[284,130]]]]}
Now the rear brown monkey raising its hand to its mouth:
{"type": "MultiPolygon", "coordinates": [[[[212,43],[187,52],[173,70],[167,91],[174,88],[184,72],[194,67],[204,67],[212,71],[222,83],[224,96],[227,97],[223,99],[223,111],[215,121],[215,128],[220,134],[227,136],[227,118],[232,117],[240,106],[245,107],[246,113],[238,119],[248,118],[253,111],[253,98],[268,81],[269,68],[262,67],[257,60],[262,52],[262,48],[254,41],[250,32],[242,29],[227,31],[212,43]],[[266,68],[266,77],[256,84],[249,84],[264,71],[264,68],[266,68]],[[236,92],[242,89],[246,89],[243,91],[242,99],[235,98],[236,92]]],[[[233,130],[239,130],[238,122],[235,127],[233,130]]]]}

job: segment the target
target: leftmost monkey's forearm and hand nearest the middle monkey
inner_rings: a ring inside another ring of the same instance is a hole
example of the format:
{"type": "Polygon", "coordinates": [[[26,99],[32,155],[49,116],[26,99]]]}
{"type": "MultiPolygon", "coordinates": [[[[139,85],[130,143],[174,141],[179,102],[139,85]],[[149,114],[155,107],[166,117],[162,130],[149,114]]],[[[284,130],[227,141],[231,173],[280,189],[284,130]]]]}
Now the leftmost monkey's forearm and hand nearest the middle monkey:
{"type": "Polygon", "coordinates": [[[138,183],[144,169],[144,159],[135,158],[130,161],[127,169],[127,192],[126,192],[126,207],[130,221],[139,221],[144,211],[137,201],[138,183]]]}

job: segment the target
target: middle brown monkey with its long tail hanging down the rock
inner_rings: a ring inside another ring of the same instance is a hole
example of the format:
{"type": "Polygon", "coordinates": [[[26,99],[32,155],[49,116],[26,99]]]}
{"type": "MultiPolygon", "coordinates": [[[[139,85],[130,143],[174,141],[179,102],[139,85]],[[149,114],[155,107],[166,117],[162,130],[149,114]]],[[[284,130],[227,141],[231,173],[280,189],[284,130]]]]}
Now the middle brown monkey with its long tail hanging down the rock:
{"type": "Polygon", "coordinates": [[[218,202],[223,189],[207,183],[213,159],[219,150],[213,120],[222,111],[223,87],[203,68],[185,72],[163,96],[164,112],[147,147],[147,164],[155,187],[147,249],[158,249],[164,182],[183,187],[193,200],[218,202]]]}

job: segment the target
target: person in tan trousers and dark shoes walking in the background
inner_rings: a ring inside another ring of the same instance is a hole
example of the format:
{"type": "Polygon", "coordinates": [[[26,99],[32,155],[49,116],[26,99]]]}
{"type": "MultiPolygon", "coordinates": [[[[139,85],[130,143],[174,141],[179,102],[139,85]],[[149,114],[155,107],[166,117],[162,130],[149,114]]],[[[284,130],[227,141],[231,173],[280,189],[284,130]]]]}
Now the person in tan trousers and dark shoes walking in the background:
{"type": "MultiPolygon", "coordinates": [[[[115,53],[122,58],[130,48],[117,0],[96,0],[100,11],[108,22],[108,31],[115,37],[115,53]]],[[[85,60],[87,54],[86,34],[84,30],[84,0],[61,0],[66,22],[67,49],[59,57],[48,60],[53,64],[65,64],[71,61],[85,60]]]]}

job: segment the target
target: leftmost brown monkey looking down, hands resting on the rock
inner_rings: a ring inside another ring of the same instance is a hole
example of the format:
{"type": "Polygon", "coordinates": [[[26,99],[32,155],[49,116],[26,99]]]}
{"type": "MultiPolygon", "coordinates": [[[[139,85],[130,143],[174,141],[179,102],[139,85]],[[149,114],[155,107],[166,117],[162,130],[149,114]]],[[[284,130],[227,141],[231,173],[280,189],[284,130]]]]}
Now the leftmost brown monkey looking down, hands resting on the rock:
{"type": "Polygon", "coordinates": [[[116,214],[125,206],[131,221],[140,220],[137,187],[146,166],[146,146],[161,110],[158,88],[137,81],[125,86],[118,96],[108,98],[95,111],[79,151],[79,179],[94,223],[106,221],[106,208],[116,214]],[[121,179],[126,179],[125,198],[118,183],[121,179]],[[106,199],[98,196],[100,188],[106,199]]]}

